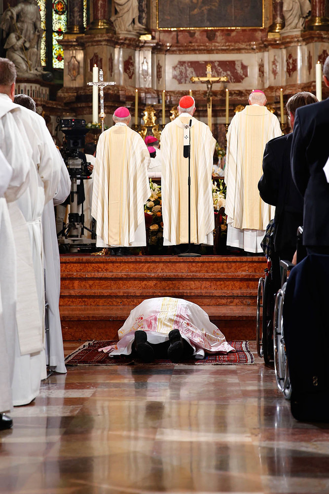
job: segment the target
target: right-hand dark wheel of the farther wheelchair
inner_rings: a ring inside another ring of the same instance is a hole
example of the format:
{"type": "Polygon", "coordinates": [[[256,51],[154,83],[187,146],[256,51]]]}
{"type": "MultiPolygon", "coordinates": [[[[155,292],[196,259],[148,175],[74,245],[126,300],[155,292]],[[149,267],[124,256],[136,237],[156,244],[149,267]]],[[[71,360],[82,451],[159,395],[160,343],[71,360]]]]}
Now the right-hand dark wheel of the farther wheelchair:
{"type": "Polygon", "coordinates": [[[262,343],[265,365],[268,365],[273,360],[273,300],[271,275],[265,269],[262,315],[262,343]]]}

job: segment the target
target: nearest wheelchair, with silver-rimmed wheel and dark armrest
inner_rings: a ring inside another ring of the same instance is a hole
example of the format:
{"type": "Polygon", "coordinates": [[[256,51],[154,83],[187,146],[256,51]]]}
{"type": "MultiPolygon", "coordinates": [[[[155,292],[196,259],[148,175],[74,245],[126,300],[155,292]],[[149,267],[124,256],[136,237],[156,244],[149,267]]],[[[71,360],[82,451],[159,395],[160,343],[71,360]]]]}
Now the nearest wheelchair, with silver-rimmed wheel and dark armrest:
{"type": "MultiPolygon", "coordinates": [[[[306,256],[306,249],[302,245],[303,227],[297,230],[297,263],[306,256]]],[[[285,345],[285,334],[283,325],[283,305],[285,300],[287,280],[293,264],[290,261],[280,260],[281,288],[275,297],[274,323],[273,323],[273,356],[274,371],[278,389],[287,400],[290,400],[292,387],[289,376],[288,359],[285,345]]]]}

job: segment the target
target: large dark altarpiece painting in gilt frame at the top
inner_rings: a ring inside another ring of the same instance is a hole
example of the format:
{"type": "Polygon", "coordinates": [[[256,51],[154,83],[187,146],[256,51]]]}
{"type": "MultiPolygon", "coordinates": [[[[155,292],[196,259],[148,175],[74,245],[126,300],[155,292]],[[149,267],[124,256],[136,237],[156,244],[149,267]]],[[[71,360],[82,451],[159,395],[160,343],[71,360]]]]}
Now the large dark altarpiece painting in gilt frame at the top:
{"type": "Polygon", "coordinates": [[[263,27],[263,0],[157,0],[158,29],[263,27]]]}

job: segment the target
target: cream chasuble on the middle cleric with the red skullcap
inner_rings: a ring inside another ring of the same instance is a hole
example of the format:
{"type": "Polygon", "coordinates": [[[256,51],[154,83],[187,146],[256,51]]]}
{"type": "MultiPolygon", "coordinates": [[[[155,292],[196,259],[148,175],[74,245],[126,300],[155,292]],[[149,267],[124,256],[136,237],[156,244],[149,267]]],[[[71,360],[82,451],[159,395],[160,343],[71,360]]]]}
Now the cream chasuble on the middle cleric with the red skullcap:
{"type": "Polygon", "coordinates": [[[188,243],[188,159],[183,157],[183,128],[190,120],[191,244],[214,244],[212,169],[216,140],[208,125],[183,113],[161,133],[164,245],[188,243]]]}

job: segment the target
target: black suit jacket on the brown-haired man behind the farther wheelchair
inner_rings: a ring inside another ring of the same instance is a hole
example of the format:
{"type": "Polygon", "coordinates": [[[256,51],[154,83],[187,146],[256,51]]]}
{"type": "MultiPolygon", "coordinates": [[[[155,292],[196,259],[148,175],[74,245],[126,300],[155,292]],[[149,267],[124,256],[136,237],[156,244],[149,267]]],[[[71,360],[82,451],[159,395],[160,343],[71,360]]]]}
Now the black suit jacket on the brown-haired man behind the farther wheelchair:
{"type": "Polygon", "coordinates": [[[303,198],[292,180],[290,152],[292,134],[271,139],[263,156],[263,175],[258,182],[262,200],[275,208],[274,246],[280,257],[292,260],[297,228],[303,224],[303,198]],[[284,253],[283,253],[284,252],[284,253]]]}

